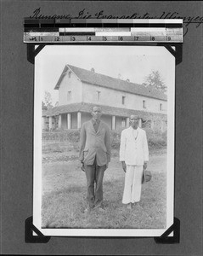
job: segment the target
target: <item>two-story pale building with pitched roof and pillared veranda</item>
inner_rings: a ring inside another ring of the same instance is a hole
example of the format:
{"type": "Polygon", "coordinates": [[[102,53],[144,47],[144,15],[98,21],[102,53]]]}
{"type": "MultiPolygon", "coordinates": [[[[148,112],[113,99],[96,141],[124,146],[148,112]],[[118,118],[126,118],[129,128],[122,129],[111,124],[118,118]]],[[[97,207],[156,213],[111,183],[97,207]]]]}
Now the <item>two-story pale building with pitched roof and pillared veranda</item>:
{"type": "Polygon", "coordinates": [[[128,127],[133,113],[140,126],[166,130],[167,96],[159,90],[71,65],[65,65],[54,89],[59,106],[43,111],[42,129],[80,129],[91,119],[93,106],[100,106],[112,130],[128,127]]]}

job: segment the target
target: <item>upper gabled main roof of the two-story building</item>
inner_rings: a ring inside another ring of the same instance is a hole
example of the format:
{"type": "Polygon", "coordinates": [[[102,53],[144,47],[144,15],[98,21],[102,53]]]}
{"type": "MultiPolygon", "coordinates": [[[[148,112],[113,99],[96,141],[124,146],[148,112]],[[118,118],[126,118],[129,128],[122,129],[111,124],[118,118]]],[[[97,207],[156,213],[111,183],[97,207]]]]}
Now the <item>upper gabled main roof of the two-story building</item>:
{"type": "Polygon", "coordinates": [[[55,86],[55,90],[59,89],[59,85],[64,78],[66,72],[70,69],[73,73],[75,73],[76,77],[80,79],[82,82],[87,84],[96,84],[105,88],[125,91],[128,93],[133,93],[140,96],[147,96],[150,98],[160,99],[162,101],[167,101],[166,94],[162,93],[160,90],[155,90],[151,88],[147,88],[142,84],[133,84],[131,82],[111,78],[110,76],[106,76],[104,74],[95,73],[93,71],[89,71],[87,69],[83,69],[80,67],[75,67],[67,64],[64,68],[64,71],[59,77],[59,81],[55,86]]]}

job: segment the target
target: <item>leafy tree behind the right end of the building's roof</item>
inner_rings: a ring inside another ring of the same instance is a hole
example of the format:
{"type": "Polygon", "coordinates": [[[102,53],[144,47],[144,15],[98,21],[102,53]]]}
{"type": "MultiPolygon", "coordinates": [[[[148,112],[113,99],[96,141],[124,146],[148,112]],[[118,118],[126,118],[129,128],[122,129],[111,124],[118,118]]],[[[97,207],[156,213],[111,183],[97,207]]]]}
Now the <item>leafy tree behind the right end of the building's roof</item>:
{"type": "Polygon", "coordinates": [[[164,80],[161,78],[161,74],[159,73],[159,71],[152,71],[152,73],[150,73],[144,81],[145,85],[151,86],[152,88],[156,89],[156,90],[161,90],[162,92],[166,92],[167,87],[166,84],[164,83],[164,80]]]}

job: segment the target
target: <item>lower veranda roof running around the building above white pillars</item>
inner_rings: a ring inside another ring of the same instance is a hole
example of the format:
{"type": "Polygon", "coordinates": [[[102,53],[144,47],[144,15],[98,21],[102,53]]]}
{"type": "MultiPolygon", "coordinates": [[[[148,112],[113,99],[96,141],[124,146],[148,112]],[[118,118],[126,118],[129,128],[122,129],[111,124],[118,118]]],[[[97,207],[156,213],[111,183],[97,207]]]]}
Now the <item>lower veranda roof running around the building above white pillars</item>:
{"type": "MultiPolygon", "coordinates": [[[[50,108],[46,111],[42,112],[42,116],[54,116],[59,115],[60,113],[91,113],[95,104],[92,103],[72,103],[68,105],[63,105],[59,107],[50,108]]],[[[126,108],[115,108],[104,105],[96,105],[102,108],[102,113],[108,115],[115,115],[120,117],[129,117],[131,114],[138,114],[138,116],[142,119],[147,119],[149,116],[157,116],[157,113],[146,112],[142,110],[134,110],[134,109],[126,109],[126,108]]],[[[167,115],[164,113],[158,113],[158,115],[162,115],[164,119],[167,118],[167,115]]]]}

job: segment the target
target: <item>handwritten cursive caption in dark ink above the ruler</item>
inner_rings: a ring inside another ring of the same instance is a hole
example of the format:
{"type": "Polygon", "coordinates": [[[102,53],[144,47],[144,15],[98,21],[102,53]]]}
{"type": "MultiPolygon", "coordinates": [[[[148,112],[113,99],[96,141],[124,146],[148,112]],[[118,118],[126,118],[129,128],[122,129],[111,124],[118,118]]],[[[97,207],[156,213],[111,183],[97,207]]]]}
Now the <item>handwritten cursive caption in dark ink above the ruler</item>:
{"type": "Polygon", "coordinates": [[[86,9],[82,9],[78,12],[78,15],[43,15],[41,13],[41,8],[37,8],[33,11],[33,14],[30,15],[30,18],[33,19],[183,19],[183,25],[185,36],[189,31],[189,26],[195,25],[196,28],[200,27],[203,24],[203,16],[183,16],[179,15],[178,12],[162,12],[161,15],[150,15],[148,12],[144,15],[138,13],[133,13],[133,15],[106,15],[104,10],[100,10],[95,14],[90,14],[86,9]]]}

